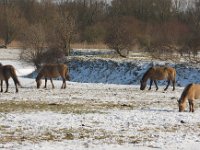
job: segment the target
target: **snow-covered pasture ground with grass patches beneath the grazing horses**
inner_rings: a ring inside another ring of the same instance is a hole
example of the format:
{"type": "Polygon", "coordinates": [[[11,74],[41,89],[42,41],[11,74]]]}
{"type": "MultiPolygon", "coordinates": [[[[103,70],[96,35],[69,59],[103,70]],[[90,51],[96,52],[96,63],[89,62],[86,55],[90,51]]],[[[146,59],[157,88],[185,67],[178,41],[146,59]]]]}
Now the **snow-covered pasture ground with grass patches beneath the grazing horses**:
{"type": "Polygon", "coordinates": [[[59,80],[55,89],[50,84],[36,89],[34,78],[26,77],[34,67],[19,60],[19,50],[0,49],[0,61],[16,68],[23,86],[15,93],[10,79],[9,93],[0,95],[1,149],[199,149],[200,101],[194,113],[179,113],[177,106],[186,81],[199,82],[198,68],[178,68],[175,91],[163,91],[163,84],[158,91],[140,91],[137,81],[81,83],[75,78],[61,90],[59,80]]]}

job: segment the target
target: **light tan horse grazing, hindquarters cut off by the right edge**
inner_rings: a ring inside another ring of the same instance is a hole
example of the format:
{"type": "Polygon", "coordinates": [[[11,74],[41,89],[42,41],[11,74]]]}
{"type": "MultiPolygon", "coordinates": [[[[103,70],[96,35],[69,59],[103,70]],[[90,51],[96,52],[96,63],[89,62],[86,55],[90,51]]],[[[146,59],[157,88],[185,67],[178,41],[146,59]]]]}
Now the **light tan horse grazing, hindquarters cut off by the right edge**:
{"type": "Polygon", "coordinates": [[[200,98],[200,84],[188,84],[178,100],[179,112],[185,110],[186,101],[189,102],[190,112],[194,112],[194,100],[200,98]]]}

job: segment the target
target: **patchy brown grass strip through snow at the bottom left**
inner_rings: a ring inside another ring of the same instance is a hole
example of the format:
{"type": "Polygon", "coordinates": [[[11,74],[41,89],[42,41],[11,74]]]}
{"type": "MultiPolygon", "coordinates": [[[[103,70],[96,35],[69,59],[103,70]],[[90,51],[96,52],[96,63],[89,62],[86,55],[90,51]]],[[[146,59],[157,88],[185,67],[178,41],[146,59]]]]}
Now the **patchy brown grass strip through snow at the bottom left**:
{"type": "Polygon", "coordinates": [[[20,127],[16,129],[11,129],[9,127],[0,127],[0,133],[4,136],[0,137],[0,143],[9,142],[41,142],[41,141],[62,141],[62,140],[79,140],[79,139],[95,139],[95,140],[106,140],[108,138],[115,138],[112,132],[105,131],[102,129],[86,129],[80,127],[78,129],[48,129],[40,131],[39,134],[27,134],[29,129],[21,129],[20,127]],[[98,133],[98,136],[97,134],[98,133]]]}

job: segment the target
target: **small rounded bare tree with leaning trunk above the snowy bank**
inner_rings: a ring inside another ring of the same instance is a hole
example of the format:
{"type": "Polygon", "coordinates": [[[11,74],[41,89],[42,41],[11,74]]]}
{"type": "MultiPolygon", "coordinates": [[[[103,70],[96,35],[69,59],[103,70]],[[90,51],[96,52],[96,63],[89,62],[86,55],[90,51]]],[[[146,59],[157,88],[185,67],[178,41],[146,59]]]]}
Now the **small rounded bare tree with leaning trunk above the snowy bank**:
{"type": "Polygon", "coordinates": [[[125,23],[115,22],[108,28],[105,43],[121,57],[127,57],[133,46],[133,36],[125,23]]]}

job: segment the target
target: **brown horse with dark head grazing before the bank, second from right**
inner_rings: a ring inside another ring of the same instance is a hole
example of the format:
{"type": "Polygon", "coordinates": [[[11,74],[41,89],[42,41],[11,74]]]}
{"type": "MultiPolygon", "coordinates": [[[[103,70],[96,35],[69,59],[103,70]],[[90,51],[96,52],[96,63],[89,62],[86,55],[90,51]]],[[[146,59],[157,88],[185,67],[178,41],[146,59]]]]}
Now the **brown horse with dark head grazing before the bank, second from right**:
{"type": "Polygon", "coordinates": [[[142,80],[140,81],[140,90],[144,90],[147,85],[147,80],[150,79],[150,87],[151,90],[152,83],[155,83],[156,90],[158,90],[158,85],[156,80],[164,80],[167,79],[167,86],[164,90],[167,90],[172,81],[173,91],[175,90],[175,82],[176,82],[176,70],[171,67],[151,67],[146,73],[143,75],[142,80]]]}

